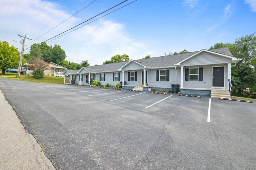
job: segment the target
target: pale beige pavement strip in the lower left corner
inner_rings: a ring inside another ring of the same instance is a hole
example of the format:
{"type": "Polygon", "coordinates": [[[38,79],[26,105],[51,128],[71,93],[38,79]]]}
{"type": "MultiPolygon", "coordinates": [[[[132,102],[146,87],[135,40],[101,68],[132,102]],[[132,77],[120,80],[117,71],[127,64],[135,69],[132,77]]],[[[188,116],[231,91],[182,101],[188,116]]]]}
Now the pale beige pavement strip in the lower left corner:
{"type": "Polygon", "coordinates": [[[0,169],[55,170],[0,91],[0,169]]]}

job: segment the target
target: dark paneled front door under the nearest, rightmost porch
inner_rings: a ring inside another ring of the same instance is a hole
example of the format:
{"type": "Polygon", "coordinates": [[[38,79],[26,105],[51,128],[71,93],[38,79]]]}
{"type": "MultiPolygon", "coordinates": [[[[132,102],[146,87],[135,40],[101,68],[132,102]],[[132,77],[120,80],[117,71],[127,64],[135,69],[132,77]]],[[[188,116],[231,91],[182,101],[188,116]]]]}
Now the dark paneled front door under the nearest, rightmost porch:
{"type": "Polygon", "coordinates": [[[224,87],[224,67],[212,67],[212,87],[224,87]]]}

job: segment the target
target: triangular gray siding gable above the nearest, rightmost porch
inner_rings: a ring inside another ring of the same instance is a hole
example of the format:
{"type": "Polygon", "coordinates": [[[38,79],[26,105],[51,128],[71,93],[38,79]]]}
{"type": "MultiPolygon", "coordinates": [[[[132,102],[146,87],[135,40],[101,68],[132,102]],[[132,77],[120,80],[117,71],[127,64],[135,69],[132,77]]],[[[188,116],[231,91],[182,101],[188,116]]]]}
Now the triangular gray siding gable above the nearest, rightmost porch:
{"type": "Polygon", "coordinates": [[[221,64],[230,62],[231,59],[221,57],[218,55],[202,52],[187,61],[181,63],[181,66],[193,66],[193,65],[209,65],[209,64],[221,64]]]}

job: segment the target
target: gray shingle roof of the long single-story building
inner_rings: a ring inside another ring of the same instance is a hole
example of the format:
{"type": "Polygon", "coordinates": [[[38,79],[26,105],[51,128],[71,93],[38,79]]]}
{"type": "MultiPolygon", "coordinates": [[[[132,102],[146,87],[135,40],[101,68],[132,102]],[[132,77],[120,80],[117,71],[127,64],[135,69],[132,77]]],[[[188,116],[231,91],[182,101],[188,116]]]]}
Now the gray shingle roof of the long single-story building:
{"type": "MultiPolygon", "coordinates": [[[[229,51],[227,47],[218,48],[218,49],[210,49],[209,51],[213,51],[216,53],[221,53],[224,55],[232,56],[232,53],[229,51]]],[[[175,64],[180,61],[190,57],[191,55],[197,53],[198,51],[176,54],[176,55],[165,55],[160,57],[152,57],[149,59],[137,59],[134,60],[146,67],[157,68],[157,67],[174,67],[175,64]]],[[[112,64],[103,64],[103,65],[94,65],[89,67],[83,67],[88,72],[97,73],[97,72],[110,72],[110,71],[118,71],[120,67],[125,65],[128,61],[120,62],[120,63],[112,63],[112,64]]]]}

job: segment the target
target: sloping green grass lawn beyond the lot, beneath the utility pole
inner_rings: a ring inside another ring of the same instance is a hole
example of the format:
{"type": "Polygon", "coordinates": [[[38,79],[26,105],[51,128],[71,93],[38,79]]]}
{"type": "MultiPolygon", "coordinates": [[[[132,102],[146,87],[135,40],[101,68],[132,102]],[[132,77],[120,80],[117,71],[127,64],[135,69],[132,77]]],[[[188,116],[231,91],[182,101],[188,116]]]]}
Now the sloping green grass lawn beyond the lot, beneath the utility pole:
{"type": "MultiPolygon", "coordinates": [[[[2,74],[2,71],[0,71],[0,78],[3,78],[3,79],[30,81],[35,83],[64,83],[64,77],[53,77],[53,76],[44,75],[42,79],[35,79],[33,75],[20,75],[20,78],[16,78],[16,76],[17,76],[17,73],[2,74]]],[[[68,82],[68,78],[66,78],[66,82],[68,82]]]]}

